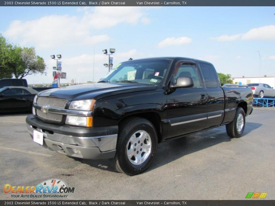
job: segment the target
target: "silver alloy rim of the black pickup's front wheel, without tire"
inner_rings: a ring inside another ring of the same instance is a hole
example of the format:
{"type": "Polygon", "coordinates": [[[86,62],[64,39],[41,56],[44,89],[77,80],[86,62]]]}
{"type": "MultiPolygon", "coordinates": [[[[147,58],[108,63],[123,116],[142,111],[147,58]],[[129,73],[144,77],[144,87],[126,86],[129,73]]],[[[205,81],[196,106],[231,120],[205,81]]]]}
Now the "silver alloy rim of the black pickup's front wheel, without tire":
{"type": "Polygon", "coordinates": [[[152,149],[151,137],[145,130],[133,133],[126,145],[128,160],[133,165],[140,165],[149,157],[152,149]]]}

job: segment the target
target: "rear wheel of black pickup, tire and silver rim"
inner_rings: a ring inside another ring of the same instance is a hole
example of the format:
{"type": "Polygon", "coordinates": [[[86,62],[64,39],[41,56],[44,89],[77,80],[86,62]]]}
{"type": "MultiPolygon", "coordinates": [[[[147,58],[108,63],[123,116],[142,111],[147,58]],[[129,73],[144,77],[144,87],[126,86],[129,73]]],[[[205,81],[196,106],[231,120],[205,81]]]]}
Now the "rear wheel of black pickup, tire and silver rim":
{"type": "Polygon", "coordinates": [[[245,113],[243,108],[237,107],[235,117],[232,122],[226,125],[226,132],[232,138],[238,138],[243,134],[245,127],[245,113]]]}

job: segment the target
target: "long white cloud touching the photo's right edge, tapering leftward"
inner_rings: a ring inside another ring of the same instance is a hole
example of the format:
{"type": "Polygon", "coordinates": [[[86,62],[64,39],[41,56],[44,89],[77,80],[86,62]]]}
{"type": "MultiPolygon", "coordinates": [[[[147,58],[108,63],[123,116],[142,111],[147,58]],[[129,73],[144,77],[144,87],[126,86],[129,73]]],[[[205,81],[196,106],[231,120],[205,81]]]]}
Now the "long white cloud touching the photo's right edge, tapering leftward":
{"type": "Polygon", "coordinates": [[[259,28],[250,29],[243,34],[235,35],[221,35],[218,37],[211,37],[211,40],[217,41],[235,41],[241,40],[275,40],[275,25],[263,26],[259,28]]]}

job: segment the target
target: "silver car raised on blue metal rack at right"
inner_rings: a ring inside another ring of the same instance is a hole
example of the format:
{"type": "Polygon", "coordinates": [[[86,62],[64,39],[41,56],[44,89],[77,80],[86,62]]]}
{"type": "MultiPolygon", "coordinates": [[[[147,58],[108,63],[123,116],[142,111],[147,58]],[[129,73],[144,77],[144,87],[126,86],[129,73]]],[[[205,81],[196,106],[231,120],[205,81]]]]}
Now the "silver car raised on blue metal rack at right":
{"type": "Polygon", "coordinates": [[[258,98],[275,98],[275,89],[264,83],[247,84],[252,89],[253,96],[258,98]]]}

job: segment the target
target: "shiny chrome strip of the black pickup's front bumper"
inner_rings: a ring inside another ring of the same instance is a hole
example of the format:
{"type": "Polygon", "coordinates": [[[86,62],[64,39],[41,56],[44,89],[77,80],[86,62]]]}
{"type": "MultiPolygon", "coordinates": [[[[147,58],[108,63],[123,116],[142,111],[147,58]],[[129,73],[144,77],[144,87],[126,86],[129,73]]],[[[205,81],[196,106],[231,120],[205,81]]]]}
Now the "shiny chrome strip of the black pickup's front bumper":
{"type": "Polygon", "coordinates": [[[98,147],[101,152],[114,150],[117,145],[117,134],[93,137],[78,137],[64,134],[50,134],[43,129],[35,129],[32,125],[27,124],[28,132],[33,136],[34,130],[43,133],[43,137],[52,141],[61,142],[63,144],[78,145],[83,147],[98,147]]]}

